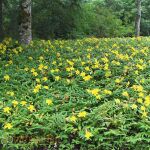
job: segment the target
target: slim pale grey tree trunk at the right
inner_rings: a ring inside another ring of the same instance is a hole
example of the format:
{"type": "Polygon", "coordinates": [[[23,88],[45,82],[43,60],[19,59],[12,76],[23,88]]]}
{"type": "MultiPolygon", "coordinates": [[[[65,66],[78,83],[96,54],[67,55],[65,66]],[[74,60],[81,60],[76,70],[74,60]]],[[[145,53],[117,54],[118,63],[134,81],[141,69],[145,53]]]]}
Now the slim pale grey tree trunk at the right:
{"type": "Polygon", "coordinates": [[[136,0],[136,20],[135,20],[135,36],[140,36],[140,25],[141,25],[141,2],[142,0],[136,0]]]}

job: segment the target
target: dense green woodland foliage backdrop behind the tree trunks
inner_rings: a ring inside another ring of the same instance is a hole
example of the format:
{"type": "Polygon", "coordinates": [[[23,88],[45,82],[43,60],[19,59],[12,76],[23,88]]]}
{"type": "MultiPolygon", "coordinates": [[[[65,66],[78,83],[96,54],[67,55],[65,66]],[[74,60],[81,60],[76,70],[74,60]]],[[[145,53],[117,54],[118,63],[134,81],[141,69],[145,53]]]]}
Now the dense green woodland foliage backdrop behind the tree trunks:
{"type": "MultiPolygon", "coordinates": [[[[141,34],[150,35],[150,3],[142,1],[141,34]]],[[[4,3],[4,32],[18,39],[19,0],[4,3]]],[[[135,0],[32,0],[34,38],[133,36],[135,0]],[[39,11],[40,10],[40,11],[39,11]]]]}

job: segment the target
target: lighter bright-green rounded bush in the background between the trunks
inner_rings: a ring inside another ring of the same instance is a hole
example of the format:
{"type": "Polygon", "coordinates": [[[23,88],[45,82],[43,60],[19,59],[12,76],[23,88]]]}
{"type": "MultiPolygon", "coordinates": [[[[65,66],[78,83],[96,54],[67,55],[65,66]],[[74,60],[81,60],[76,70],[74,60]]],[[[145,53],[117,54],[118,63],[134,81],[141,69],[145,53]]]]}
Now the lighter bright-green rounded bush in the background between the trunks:
{"type": "Polygon", "coordinates": [[[84,5],[75,21],[73,37],[122,37],[132,36],[134,28],[125,26],[112,10],[101,5],[84,5]]]}

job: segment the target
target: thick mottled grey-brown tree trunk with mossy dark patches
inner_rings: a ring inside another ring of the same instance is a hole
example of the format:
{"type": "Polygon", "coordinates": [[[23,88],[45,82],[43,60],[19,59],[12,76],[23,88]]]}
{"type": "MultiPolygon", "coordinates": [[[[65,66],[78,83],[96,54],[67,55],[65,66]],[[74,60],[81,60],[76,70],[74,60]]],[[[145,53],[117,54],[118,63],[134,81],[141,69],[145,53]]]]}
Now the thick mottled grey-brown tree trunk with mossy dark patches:
{"type": "Polygon", "coordinates": [[[29,44],[32,40],[31,0],[21,0],[20,3],[20,42],[29,44]]]}

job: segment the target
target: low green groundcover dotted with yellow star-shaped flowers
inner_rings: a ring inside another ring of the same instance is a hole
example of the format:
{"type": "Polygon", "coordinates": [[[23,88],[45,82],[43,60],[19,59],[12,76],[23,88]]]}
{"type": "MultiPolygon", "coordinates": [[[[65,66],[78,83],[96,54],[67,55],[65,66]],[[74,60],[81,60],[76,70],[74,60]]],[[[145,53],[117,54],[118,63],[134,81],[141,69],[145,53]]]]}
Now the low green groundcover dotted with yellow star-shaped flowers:
{"type": "Polygon", "coordinates": [[[0,149],[150,149],[150,38],[0,45],[0,149]]]}

